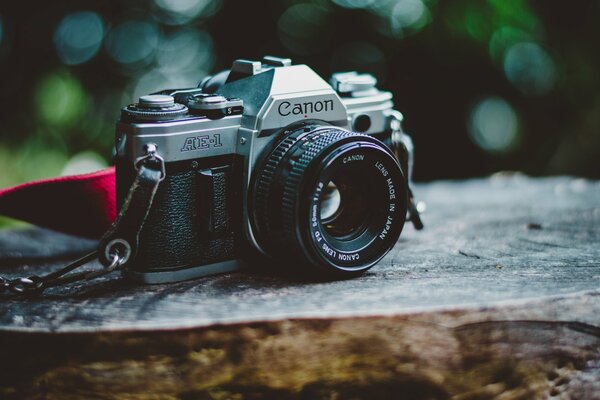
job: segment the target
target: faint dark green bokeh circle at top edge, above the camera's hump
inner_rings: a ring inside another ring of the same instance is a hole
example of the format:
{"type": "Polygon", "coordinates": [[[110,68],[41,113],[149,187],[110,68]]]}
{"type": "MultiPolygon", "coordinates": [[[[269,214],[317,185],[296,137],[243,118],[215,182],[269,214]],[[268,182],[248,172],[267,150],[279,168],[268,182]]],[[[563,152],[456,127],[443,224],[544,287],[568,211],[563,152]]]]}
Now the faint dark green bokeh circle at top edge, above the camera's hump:
{"type": "Polygon", "coordinates": [[[327,44],[329,10],[315,4],[295,4],[278,21],[279,40],[291,52],[312,54],[327,44]]]}

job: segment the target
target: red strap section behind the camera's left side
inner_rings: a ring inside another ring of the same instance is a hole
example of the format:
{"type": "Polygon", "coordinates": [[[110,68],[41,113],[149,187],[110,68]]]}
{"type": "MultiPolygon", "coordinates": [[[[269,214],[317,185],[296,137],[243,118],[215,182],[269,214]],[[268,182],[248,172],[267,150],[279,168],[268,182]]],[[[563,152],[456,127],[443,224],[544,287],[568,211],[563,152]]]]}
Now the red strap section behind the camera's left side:
{"type": "Polygon", "coordinates": [[[100,238],[116,216],[115,168],[0,189],[0,215],[100,238]]]}

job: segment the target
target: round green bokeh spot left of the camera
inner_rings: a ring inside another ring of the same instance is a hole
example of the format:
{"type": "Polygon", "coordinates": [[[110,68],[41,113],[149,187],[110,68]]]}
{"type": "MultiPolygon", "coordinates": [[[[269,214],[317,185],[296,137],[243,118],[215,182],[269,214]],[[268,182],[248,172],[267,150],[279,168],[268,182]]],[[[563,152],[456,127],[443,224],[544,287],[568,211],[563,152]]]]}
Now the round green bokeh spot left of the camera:
{"type": "Polygon", "coordinates": [[[75,77],[59,72],[40,82],[35,92],[35,105],[43,123],[68,127],[84,115],[87,95],[75,77]]]}

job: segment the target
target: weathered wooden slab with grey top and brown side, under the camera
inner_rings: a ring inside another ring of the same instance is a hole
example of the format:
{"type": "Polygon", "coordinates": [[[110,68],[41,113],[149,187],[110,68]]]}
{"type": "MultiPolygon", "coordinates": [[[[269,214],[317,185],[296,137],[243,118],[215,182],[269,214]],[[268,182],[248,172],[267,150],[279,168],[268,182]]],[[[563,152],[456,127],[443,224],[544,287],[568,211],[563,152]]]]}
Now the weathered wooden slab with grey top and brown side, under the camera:
{"type": "MultiPolygon", "coordinates": [[[[407,226],[357,279],[114,276],[4,300],[0,395],[600,399],[600,183],[514,175],[416,192],[426,229],[407,226]]],[[[0,232],[9,276],[90,246],[0,232]]]]}

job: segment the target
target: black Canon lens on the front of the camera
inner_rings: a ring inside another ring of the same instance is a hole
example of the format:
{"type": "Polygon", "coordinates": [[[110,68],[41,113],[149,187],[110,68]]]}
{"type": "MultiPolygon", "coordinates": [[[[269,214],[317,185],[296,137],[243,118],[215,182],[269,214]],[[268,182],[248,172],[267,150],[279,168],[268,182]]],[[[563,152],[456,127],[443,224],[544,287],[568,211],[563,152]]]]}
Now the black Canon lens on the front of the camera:
{"type": "Polygon", "coordinates": [[[286,265],[357,274],[396,243],[407,185],[379,140],[341,128],[288,128],[265,151],[249,192],[260,247],[286,265]]]}

